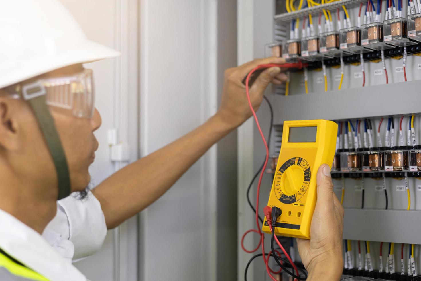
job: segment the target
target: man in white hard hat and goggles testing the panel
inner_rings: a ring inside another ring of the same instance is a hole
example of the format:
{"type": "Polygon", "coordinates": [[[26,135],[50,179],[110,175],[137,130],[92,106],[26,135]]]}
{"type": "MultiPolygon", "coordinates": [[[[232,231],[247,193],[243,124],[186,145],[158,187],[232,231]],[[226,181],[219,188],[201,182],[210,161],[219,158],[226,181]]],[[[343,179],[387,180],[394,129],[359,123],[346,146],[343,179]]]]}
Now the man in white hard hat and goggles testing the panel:
{"type": "MultiPolygon", "coordinates": [[[[0,36],[2,281],[86,280],[69,262],[74,252],[83,257],[98,249],[106,228],[149,206],[210,146],[247,120],[251,112],[242,79],[258,64],[284,62],[268,58],[226,70],[216,115],[118,171],[79,201],[68,196],[83,195],[90,182],[88,167],[98,146],[93,131],[101,125],[93,105],[92,71],[83,63],[118,53],[87,40],[56,0],[2,1],[0,36]],[[171,165],[169,158],[179,164],[171,165]],[[160,173],[162,169],[167,172],[160,173]],[[87,227],[89,232],[83,230],[87,227]]],[[[285,80],[279,68],[265,70],[250,88],[253,107],[258,109],[270,82],[285,80]]],[[[313,280],[321,274],[337,279],[341,272],[342,209],[326,167],[318,175],[312,240],[299,242],[313,280]],[[330,259],[338,264],[324,272],[319,264],[330,259]]]]}

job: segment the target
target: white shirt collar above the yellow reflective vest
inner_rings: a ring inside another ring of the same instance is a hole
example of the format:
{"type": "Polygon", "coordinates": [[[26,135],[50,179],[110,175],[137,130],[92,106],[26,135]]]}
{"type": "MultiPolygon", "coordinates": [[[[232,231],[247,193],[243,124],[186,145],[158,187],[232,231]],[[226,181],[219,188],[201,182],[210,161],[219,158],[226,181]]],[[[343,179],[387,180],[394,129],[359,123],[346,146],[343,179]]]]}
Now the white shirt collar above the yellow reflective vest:
{"type": "Polygon", "coordinates": [[[0,248],[11,257],[50,280],[86,281],[39,233],[2,209],[0,225],[0,248]]]}

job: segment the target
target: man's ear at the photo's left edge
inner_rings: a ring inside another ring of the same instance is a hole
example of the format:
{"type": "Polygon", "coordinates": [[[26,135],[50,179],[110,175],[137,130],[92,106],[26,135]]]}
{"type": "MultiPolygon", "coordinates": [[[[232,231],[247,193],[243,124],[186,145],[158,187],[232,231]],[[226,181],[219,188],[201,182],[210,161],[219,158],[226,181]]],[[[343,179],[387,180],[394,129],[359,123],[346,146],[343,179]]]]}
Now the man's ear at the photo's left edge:
{"type": "Polygon", "coordinates": [[[19,141],[19,122],[16,115],[19,101],[0,96],[0,146],[6,150],[17,150],[19,141]]]}

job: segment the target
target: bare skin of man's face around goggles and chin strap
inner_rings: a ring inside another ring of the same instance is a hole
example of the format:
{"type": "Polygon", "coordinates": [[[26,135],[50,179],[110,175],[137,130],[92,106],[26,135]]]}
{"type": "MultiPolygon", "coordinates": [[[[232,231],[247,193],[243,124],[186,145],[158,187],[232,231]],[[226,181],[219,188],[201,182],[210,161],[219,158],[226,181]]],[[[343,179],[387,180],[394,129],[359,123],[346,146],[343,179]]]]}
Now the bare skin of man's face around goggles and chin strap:
{"type": "MultiPolygon", "coordinates": [[[[72,75],[82,70],[83,66],[79,64],[55,70],[40,77],[72,75]]],[[[43,134],[29,105],[22,100],[9,100],[6,105],[3,105],[3,107],[5,106],[8,109],[3,109],[3,122],[10,119],[8,126],[16,135],[13,136],[16,137],[16,144],[8,145],[6,141],[3,150],[0,135],[0,157],[3,153],[5,154],[4,157],[10,160],[17,177],[39,185],[53,186],[54,188],[49,190],[57,192],[56,170],[43,134]]],[[[0,113],[2,113],[1,109],[0,99],[0,113]]],[[[93,132],[101,126],[101,116],[97,110],[91,119],[75,117],[69,112],[53,106],[50,107],[50,111],[66,153],[72,192],[83,191],[91,181],[88,169],[98,148],[98,142],[93,132]]],[[[5,127],[2,126],[1,130],[4,131],[5,127]]]]}

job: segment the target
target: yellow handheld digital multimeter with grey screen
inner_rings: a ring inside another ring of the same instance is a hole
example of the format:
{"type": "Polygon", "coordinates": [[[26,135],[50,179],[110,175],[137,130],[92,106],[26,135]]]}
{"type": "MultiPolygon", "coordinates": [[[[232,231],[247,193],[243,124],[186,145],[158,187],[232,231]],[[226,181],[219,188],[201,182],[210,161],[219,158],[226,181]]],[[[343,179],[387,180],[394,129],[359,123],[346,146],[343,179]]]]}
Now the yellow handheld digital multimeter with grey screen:
{"type": "MultiPolygon", "coordinates": [[[[281,150],[267,204],[282,211],[275,225],[275,235],[310,238],[317,200],[317,170],[323,163],[332,168],[337,132],[338,124],[328,120],[284,122],[281,150]]],[[[266,218],[262,230],[271,233],[266,218]]]]}

